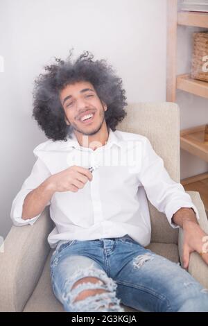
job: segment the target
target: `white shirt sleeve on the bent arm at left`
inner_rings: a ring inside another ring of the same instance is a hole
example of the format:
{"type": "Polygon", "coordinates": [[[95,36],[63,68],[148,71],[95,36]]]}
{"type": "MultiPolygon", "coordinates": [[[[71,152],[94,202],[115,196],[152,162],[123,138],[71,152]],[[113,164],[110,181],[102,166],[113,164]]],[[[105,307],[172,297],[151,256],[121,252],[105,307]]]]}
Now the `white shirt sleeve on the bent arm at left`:
{"type": "MultiPolygon", "coordinates": [[[[12,201],[10,218],[12,219],[12,223],[14,225],[17,226],[27,225],[27,224],[33,225],[35,221],[37,221],[37,218],[41,215],[41,213],[33,218],[28,218],[26,220],[21,218],[24,199],[26,198],[27,194],[29,194],[29,192],[37,188],[42,182],[44,182],[44,180],[46,180],[46,178],[49,178],[50,175],[51,173],[49,169],[47,169],[44,162],[42,162],[42,160],[40,160],[40,158],[38,157],[37,161],[33,166],[31,174],[24,181],[17,196],[12,201]]],[[[49,200],[46,206],[50,204],[51,204],[51,200],[49,200]]]]}

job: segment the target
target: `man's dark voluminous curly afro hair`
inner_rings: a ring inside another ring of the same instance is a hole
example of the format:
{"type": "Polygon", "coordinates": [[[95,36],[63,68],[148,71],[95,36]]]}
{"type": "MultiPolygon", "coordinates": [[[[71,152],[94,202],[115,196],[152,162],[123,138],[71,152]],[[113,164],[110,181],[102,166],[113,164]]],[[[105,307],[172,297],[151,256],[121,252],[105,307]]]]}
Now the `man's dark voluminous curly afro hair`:
{"type": "Polygon", "coordinates": [[[64,110],[59,93],[64,87],[79,81],[87,81],[94,86],[101,101],[107,105],[105,121],[107,127],[116,130],[116,125],[126,115],[124,107],[125,90],[122,80],[116,76],[106,60],[93,61],[94,55],[84,51],[75,62],[71,62],[71,51],[66,61],[55,58],[54,65],[44,67],[44,74],[35,79],[33,91],[33,117],[46,137],[67,141],[71,128],[64,120],[64,110]]]}

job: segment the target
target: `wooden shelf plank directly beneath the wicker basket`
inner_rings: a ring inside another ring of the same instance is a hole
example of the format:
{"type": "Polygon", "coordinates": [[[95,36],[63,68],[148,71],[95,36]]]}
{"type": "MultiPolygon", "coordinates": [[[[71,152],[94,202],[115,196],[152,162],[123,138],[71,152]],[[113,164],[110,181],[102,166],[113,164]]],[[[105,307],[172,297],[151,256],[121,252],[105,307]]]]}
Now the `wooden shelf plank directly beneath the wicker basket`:
{"type": "Polygon", "coordinates": [[[193,79],[189,74],[177,76],[176,88],[197,96],[208,98],[208,83],[193,79]]]}

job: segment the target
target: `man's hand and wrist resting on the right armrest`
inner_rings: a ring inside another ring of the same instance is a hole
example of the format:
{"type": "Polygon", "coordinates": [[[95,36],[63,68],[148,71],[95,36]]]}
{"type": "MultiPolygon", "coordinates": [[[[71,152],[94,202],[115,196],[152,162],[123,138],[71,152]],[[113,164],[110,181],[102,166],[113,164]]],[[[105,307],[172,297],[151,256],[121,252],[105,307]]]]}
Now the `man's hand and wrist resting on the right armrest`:
{"type": "Polygon", "coordinates": [[[173,222],[184,231],[183,267],[188,268],[190,253],[197,251],[208,265],[208,236],[198,225],[196,214],[191,208],[180,208],[173,214],[173,222]]]}

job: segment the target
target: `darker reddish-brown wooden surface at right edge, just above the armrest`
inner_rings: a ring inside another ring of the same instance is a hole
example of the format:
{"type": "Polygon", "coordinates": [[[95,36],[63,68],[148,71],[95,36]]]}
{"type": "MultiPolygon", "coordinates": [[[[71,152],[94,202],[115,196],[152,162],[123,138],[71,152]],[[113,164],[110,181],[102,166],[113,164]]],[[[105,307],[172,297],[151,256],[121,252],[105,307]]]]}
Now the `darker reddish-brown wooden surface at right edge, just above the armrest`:
{"type": "Polygon", "coordinates": [[[183,179],[181,184],[186,191],[198,191],[200,193],[208,214],[208,173],[201,173],[191,178],[183,179]]]}

